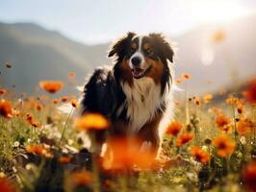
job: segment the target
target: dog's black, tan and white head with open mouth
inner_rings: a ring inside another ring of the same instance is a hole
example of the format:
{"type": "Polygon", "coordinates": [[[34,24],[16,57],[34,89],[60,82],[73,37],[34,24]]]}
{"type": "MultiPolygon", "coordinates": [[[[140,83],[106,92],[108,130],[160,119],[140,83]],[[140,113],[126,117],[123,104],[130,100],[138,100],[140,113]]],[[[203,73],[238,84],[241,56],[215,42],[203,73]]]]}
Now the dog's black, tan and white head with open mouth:
{"type": "Polygon", "coordinates": [[[169,74],[167,60],[173,61],[173,50],[161,34],[137,36],[128,33],[112,46],[109,57],[116,57],[122,77],[132,80],[150,77],[158,82],[169,74]]]}

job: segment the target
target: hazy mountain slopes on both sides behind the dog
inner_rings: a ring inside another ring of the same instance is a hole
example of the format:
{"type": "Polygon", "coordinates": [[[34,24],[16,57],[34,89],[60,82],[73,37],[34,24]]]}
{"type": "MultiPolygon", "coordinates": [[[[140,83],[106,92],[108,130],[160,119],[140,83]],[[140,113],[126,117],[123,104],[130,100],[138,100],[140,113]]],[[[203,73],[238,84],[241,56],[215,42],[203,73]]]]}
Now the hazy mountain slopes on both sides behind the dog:
{"type": "MultiPolygon", "coordinates": [[[[225,24],[208,24],[181,36],[170,37],[176,51],[175,71],[178,78],[188,72],[190,93],[218,90],[256,76],[256,16],[251,15],[225,24]],[[220,42],[213,42],[216,32],[223,32],[220,42]],[[205,60],[205,61],[204,61],[205,60]],[[212,83],[211,83],[212,82],[212,83]]],[[[97,66],[111,63],[106,58],[109,43],[94,46],[73,41],[62,34],[33,23],[0,23],[0,85],[16,92],[35,93],[40,80],[61,80],[76,73],[78,84],[97,66]],[[13,63],[12,69],[4,66],[13,63]]],[[[68,84],[64,93],[74,92],[68,84]]]]}

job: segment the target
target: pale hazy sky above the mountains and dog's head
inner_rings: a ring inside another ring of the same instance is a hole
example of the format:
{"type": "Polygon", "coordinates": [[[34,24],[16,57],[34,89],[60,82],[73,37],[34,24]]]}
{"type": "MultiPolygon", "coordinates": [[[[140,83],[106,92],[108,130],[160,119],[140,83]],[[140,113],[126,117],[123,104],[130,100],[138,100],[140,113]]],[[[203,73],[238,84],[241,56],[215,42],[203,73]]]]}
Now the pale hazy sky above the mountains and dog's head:
{"type": "Polygon", "coordinates": [[[127,31],[177,36],[256,12],[256,0],[0,0],[1,22],[35,22],[85,43],[127,31]]]}

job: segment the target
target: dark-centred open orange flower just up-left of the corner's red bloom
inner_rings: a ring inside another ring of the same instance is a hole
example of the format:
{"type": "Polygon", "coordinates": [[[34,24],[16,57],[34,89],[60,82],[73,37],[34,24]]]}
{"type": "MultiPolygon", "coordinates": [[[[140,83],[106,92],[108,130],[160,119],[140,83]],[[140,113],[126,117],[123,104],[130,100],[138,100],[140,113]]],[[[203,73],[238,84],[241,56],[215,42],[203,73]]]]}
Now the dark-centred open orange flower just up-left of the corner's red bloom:
{"type": "Polygon", "coordinates": [[[230,140],[226,135],[216,137],[213,144],[217,148],[218,156],[221,157],[230,156],[236,148],[235,142],[230,140]]]}

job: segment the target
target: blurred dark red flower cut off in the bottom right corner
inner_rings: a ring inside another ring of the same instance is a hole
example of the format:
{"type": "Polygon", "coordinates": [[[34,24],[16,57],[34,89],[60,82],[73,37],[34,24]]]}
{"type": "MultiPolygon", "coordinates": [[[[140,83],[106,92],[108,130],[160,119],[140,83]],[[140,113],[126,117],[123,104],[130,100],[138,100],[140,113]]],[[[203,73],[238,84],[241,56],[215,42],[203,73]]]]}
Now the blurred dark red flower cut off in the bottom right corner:
{"type": "Polygon", "coordinates": [[[243,185],[248,192],[256,192],[256,161],[248,163],[243,168],[243,185]]]}

